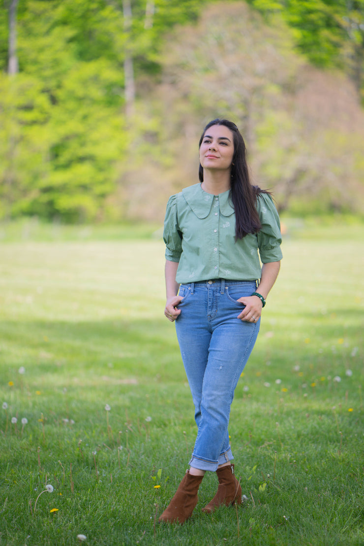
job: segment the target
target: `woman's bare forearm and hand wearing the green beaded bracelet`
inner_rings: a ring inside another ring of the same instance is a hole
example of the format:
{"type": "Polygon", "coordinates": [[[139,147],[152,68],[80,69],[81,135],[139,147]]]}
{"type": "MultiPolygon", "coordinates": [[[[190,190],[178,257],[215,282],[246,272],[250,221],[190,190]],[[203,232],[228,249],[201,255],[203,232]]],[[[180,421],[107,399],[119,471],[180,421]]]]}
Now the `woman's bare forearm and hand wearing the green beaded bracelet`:
{"type": "MultiPolygon", "coordinates": [[[[264,299],[268,296],[272,286],[276,282],[278,273],[280,272],[281,262],[268,262],[262,266],[262,278],[257,288],[257,292],[263,296],[264,299]]],[[[240,298],[245,308],[238,315],[242,321],[245,322],[257,322],[262,314],[263,302],[258,296],[246,296],[240,298]]]]}

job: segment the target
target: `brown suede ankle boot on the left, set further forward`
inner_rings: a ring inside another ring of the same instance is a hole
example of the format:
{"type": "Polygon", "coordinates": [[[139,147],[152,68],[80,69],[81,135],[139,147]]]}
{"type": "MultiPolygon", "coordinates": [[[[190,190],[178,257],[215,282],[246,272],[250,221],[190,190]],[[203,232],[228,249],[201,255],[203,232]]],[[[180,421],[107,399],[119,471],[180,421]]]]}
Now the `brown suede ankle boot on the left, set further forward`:
{"type": "Polygon", "coordinates": [[[203,476],[192,476],[186,471],[174,497],[159,518],[160,523],[184,523],[191,517],[193,508],[197,505],[197,491],[202,478],[203,476]]]}

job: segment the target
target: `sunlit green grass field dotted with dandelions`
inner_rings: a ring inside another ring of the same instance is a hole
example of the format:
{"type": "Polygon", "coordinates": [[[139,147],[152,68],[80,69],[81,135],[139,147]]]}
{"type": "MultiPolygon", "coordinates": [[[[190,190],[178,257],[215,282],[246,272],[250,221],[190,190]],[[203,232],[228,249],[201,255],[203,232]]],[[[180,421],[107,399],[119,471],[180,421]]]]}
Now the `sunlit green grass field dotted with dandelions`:
{"type": "Polygon", "coordinates": [[[364,544],[364,225],[287,225],[230,419],[247,499],[203,514],[208,474],[183,526],[155,523],[196,434],[156,228],[0,229],[0,544],[364,544]]]}

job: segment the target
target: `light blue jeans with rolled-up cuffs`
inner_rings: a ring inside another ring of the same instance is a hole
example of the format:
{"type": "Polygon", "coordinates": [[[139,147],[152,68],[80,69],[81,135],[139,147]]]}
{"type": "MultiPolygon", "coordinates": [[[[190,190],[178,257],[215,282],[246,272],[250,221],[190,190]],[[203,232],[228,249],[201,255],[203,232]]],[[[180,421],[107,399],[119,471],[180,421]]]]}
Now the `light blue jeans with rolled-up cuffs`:
{"type": "Polygon", "coordinates": [[[236,318],[238,300],[255,292],[254,281],[218,279],[181,284],[175,321],[198,427],[190,466],[216,468],[233,459],[228,424],[234,390],[256,342],[257,323],[236,318]]]}

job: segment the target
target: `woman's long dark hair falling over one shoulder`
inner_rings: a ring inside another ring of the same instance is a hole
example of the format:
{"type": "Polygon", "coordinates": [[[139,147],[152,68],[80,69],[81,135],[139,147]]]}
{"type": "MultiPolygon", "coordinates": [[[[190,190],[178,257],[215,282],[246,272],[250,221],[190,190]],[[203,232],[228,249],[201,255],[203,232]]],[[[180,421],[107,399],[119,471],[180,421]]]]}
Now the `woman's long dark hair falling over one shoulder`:
{"type": "MultiPolygon", "coordinates": [[[[269,193],[258,186],[250,183],[249,170],[246,162],[246,147],[238,127],[228,120],[210,121],[204,128],[199,140],[198,148],[201,147],[203,137],[213,125],[225,125],[233,133],[234,155],[231,168],[231,198],[235,209],[235,240],[242,239],[248,233],[258,233],[260,224],[256,204],[259,193],[269,193]]],[[[200,163],[198,169],[199,181],[203,182],[203,168],[200,163]]]]}

